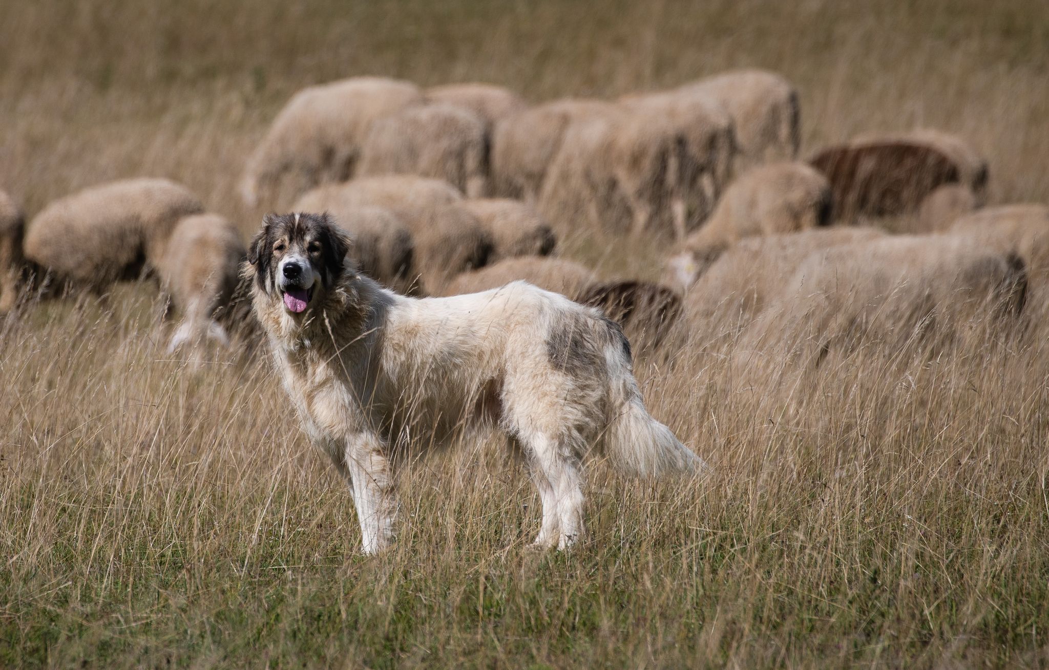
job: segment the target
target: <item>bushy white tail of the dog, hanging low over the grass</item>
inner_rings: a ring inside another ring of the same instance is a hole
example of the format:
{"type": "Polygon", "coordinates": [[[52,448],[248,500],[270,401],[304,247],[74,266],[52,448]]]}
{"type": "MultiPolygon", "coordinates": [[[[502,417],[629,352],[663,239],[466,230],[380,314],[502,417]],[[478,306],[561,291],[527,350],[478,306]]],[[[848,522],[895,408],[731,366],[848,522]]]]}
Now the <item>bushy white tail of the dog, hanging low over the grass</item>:
{"type": "MultiPolygon", "coordinates": [[[[622,337],[622,330],[619,336],[622,337]]],[[[626,343],[625,337],[623,342],[626,343]]],[[[628,343],[620,350],[607,351],[606,360],[612,381],[612,416],[604,436],[604,451],[613,466],[641,477],[707,470],[702,458],[645,409],[630,369],[628,343]]]]}

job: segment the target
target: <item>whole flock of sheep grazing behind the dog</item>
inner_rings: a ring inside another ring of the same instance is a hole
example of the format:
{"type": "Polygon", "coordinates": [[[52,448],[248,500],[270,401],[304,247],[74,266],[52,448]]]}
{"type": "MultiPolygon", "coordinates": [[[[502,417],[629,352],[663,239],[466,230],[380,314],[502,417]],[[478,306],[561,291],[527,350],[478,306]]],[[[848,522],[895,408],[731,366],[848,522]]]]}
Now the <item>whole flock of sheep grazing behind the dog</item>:
{"type": "MultiPolygon", "coordinates": [[[[963,139],[865,135],[799,160],[799,118],[794,86],[761,70],[537,105],[488,84],[354,78],[292,98],[240,195],[330,212],[362,271],[402,293],[526,279],[603,306],[650,347],[733,334],[815,343],[822,359],[859,332],[891,344],[1041,300],[1049,209],[985,208],[987,165],[963,139]],[[579,233],[663,245],[660,283],[558,258],[579,233]]],[[[243,257],[237,226],[167,179],[88,188],[27,223],[0,191],[0,314],[155,277],[180,320],[172,347],[224,343],[251,331],[243,257]]]]}

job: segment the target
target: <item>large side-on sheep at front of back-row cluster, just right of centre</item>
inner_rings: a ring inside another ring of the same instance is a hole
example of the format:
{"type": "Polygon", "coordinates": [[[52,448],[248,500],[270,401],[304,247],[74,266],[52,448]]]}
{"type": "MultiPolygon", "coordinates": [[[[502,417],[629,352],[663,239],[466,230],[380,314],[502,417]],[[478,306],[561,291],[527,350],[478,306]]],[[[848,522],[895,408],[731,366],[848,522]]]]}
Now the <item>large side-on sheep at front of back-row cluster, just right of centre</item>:
{"type": "Polygon", "coordinates": [[[558,228],[671,236],[684,211],[685,139],[667,118],[620,107],[569,125],[539,195],[558,228]]]}

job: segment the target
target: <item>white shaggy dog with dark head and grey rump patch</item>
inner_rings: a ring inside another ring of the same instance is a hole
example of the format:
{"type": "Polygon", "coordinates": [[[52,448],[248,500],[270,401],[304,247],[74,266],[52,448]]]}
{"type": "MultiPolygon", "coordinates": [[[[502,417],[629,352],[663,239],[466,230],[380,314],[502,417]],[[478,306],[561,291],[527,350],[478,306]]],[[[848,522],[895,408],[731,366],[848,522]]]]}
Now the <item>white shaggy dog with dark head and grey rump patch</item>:
{"type": "Polygon", "coordinates": [[[304,432],[350,484],[366,554],[393,541],[394,464],[465,430],[499,430],[523,455],[540,547],[582,536],[593,454],[642,476],[704,467],[648,414],[629,342],[598,309],[522,281],[402,296],[350,251],[326,213],[269,214],[243,277],[304,432]]]}

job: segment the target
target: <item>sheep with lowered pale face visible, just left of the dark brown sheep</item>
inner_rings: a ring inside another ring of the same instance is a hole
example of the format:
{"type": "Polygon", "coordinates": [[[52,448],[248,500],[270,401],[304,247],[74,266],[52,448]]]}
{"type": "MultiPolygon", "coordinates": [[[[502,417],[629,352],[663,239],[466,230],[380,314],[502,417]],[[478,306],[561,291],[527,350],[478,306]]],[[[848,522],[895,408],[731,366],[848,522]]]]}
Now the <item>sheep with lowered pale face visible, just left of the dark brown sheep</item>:
{"type": "Polygon", "coordinates": [[[710,219],[669,260],[675,283],[687,287],[737,240],[827,225],[830,212],[830,185],[804,163],[753,168],[729,185],[710,219]]]}

